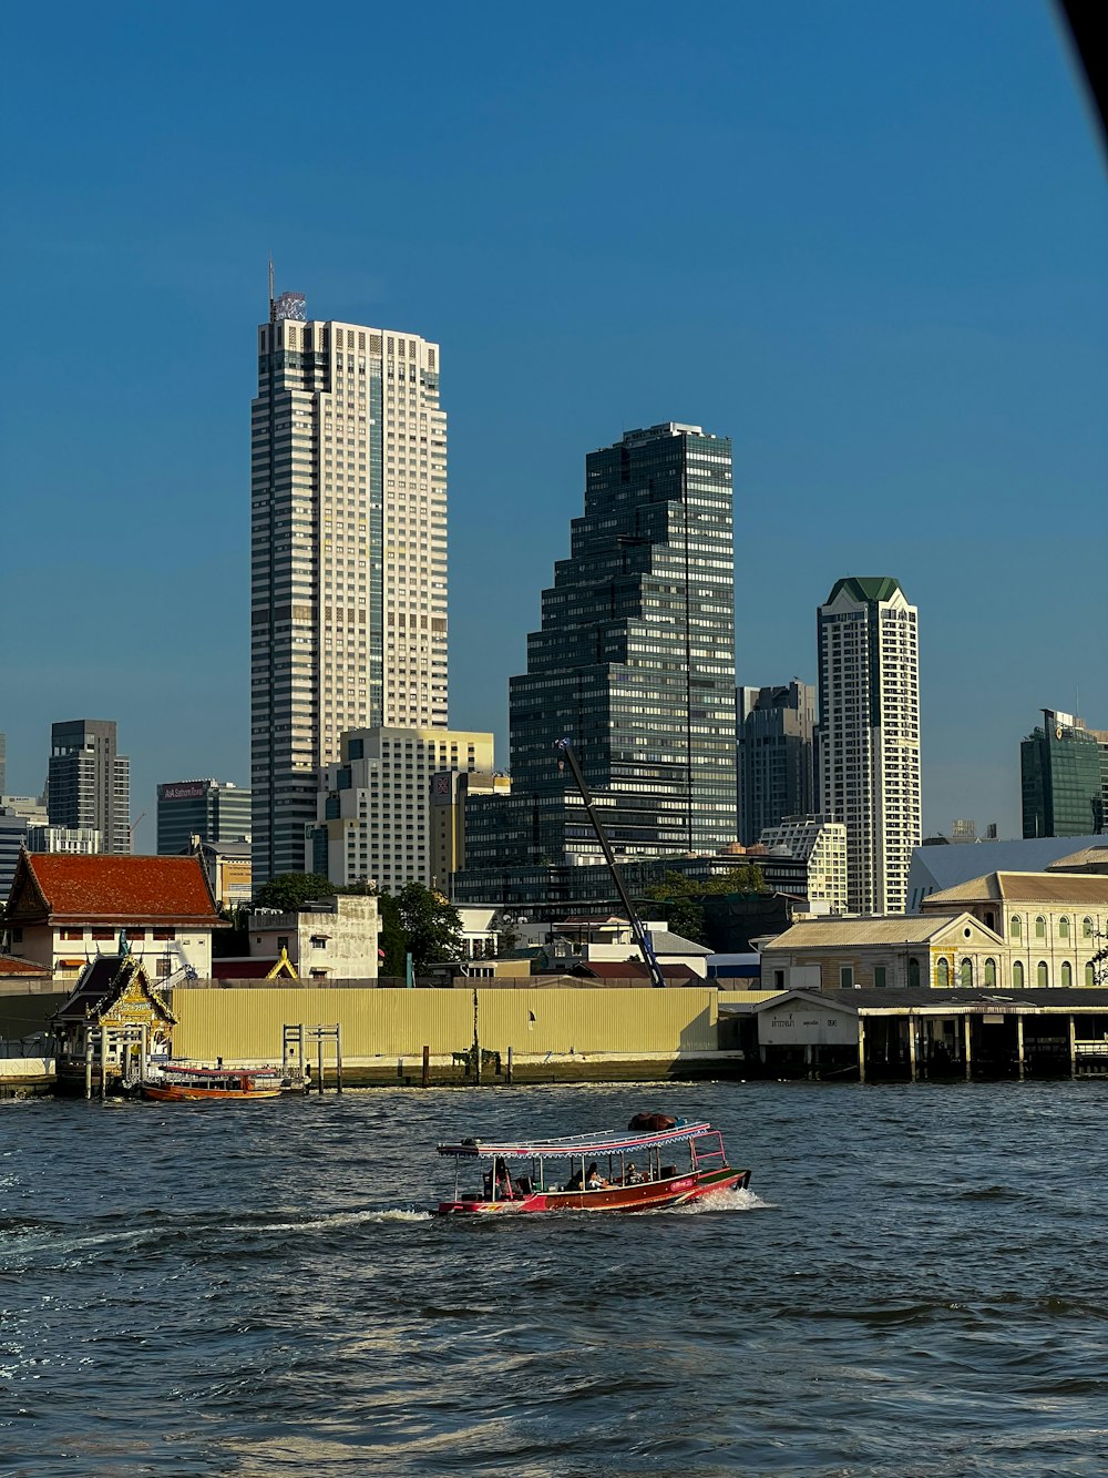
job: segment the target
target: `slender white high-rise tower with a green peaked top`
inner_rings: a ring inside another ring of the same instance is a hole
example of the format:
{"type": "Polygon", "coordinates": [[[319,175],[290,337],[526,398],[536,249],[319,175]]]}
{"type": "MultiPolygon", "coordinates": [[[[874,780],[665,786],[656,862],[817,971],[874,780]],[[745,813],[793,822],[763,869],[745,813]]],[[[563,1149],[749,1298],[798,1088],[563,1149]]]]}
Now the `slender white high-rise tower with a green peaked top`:
{"type": "Polygon", "coordinates": [[[820,606],[821,810],[847,826],[851,913],[903,913],[919,800],[917,610],[888,575],[820,606]]]}

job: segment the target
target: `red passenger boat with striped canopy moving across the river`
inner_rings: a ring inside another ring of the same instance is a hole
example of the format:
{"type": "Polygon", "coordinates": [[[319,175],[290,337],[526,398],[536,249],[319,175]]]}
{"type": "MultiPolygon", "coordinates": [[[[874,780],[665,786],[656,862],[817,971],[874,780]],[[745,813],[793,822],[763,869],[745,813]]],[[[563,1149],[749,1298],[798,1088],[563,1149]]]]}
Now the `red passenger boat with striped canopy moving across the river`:
{"type": "MultiPolygon", "coordinates": [[[[632,1125],[641,1120],[634,1119],[632,1125]]],[[[462,1140],[440,1144],[454,1159],[454,1199],[440,1216],[536,1210],[662,1210],[715,1191],[746,1190],[749,1171],[727,1163],[722,1135],[705,1122],[646,1116],[666,1128],[557,1140],[462,1140]],[[680,1160],[681,1163],[671,1163],[680,1160]],[[464,1160],[488,1162],[480,1191],[459,1194],[464,1160]]]]}

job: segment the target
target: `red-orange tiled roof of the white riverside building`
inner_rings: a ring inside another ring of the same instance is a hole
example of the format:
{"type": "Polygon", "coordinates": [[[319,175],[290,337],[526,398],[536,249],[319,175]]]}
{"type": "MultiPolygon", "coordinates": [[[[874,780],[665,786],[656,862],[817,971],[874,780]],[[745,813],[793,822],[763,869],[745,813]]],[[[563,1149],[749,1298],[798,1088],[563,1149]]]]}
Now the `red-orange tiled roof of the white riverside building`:
{"type": "Polygon", "coordinates": [[[219,925],[198,857],[115,857],[21,853],[7,902],[9,921],[130,924],[165,919],[219,925]]]}

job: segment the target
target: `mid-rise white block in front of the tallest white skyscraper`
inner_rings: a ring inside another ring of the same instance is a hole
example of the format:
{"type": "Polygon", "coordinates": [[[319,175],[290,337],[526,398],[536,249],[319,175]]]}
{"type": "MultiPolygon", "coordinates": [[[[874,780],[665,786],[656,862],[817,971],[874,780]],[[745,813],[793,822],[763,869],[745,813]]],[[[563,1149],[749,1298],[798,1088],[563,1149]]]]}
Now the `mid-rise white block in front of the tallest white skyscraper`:
{"type": "Polygon", "coordinates": [[[355,729],[341,758],[322,769],[318,822],[309,828],[298,866],[331,882],[377,884],[399,893],[431,876],[431,776],[493,769],[493,736],[455,729],[355,729]]]}

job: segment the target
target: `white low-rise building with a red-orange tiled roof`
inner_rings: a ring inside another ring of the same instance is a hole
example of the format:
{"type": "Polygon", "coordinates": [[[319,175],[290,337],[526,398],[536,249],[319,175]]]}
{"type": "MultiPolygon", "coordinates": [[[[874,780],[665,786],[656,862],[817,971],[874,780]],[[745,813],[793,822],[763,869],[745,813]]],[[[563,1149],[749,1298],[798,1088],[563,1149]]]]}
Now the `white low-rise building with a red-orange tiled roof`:
{"type": "Polygon", "coordinates": [[[123,939],[154,980],[211,974],[223,921],[196,857],[19,854],[4,910],[7,952],[75,980],[123,939]]]}

